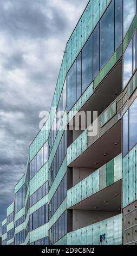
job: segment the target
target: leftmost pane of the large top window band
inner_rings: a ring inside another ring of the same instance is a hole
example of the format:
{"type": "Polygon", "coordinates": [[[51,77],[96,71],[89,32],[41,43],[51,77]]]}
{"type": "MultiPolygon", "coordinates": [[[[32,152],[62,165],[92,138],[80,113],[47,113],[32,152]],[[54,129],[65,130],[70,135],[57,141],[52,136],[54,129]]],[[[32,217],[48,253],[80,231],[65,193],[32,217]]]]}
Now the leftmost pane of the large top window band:
{"type": "Polygon", "coordinates": [[[69,111],[76,102],[76,62],[68,72],[67,76],[67,111],[69,111]]]}

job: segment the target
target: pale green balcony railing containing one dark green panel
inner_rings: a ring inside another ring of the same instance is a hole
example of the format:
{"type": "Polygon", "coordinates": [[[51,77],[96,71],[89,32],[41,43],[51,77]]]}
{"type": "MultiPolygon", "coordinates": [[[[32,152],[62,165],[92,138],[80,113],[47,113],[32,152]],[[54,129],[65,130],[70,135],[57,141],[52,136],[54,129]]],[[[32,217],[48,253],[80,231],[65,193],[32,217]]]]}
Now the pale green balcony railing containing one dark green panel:
{"type": "Polygon", "coordinates": [[[116,156],[81,182],[71,187],[67,192],[67,207],[70,208],[121,178],[122,154],[116,156]]]}

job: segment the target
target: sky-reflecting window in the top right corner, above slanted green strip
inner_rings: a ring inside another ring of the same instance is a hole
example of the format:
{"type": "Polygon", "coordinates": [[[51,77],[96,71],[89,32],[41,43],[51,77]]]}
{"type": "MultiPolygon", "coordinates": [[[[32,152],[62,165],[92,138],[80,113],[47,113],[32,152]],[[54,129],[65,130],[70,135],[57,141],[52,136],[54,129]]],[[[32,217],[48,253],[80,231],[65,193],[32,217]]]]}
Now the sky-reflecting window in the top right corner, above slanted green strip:
{"type": "Polygon", "coordinates": [[[126,35],[136,13],[136,0],[123,0],[123,36],[126,35]]]}

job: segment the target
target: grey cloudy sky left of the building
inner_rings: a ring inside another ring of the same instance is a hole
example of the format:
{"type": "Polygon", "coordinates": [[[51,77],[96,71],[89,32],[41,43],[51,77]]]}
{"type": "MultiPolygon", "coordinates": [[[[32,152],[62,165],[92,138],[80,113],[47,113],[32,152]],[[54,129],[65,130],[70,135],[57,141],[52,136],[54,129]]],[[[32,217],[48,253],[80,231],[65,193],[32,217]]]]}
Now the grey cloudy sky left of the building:
{"type": "MultiPolygon", "coordinates": [[[[0,0],[0,222],[88,0],[0,0]]],[[[1,235],[1,229],[0,229],[1,235]]]]}

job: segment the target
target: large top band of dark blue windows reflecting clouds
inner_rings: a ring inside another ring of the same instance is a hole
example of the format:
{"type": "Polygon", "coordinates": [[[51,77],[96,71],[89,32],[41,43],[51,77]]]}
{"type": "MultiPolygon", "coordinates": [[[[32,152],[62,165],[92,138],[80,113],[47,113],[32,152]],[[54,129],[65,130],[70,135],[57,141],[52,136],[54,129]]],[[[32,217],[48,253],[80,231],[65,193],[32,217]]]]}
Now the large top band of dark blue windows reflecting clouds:
{"type": "Polygon", "coordinates": [[[68,112],[99,74],[121,42],[122,0],[113,0],[68,71],[68,112]]]}

